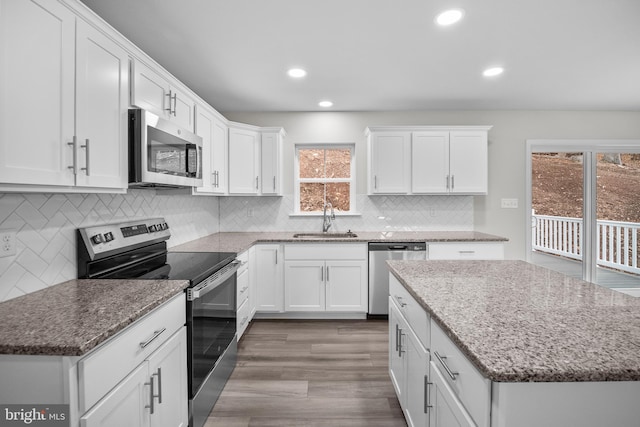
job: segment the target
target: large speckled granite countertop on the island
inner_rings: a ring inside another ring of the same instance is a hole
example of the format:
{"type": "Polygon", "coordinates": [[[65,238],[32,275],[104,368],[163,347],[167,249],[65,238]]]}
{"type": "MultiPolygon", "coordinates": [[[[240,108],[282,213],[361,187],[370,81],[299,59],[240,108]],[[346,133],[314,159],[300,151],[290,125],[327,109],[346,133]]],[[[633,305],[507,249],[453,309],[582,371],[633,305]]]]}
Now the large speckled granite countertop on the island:
{"type": "Polygon", "coordinates": [[[492,381],[640,380],[640,298],[524,261],[388,261],[492,381]]]}

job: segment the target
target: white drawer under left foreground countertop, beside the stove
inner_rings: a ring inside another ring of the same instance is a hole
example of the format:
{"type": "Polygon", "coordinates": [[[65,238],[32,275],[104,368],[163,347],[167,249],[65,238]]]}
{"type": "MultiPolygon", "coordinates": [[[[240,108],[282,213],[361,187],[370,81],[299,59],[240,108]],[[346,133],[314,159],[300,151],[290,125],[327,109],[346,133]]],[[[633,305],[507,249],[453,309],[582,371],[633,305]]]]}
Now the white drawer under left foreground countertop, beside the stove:
{"type": "Polygon", "coordinates": [[[185,324],[185,294],[166,302],[78,362],[84,413],[185,324]],[[155,337],[155,338],[154,338],[155,337]],[[144,344],[144,347],[143,347],[144,344]]]}

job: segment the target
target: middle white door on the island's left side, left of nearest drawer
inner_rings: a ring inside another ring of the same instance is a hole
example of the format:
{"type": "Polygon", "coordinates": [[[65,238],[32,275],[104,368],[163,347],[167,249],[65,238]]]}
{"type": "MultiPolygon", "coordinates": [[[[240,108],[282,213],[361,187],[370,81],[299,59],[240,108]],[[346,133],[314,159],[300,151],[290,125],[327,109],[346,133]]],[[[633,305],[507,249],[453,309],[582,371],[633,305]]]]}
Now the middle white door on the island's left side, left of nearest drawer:
{"type": "Polygon", "coordinates": [[[406,400],[404,413],[409,427],[427,427],[427,387],[429,386],[429,352],[412,330],[403,331],[406,350],[406,400]]]}

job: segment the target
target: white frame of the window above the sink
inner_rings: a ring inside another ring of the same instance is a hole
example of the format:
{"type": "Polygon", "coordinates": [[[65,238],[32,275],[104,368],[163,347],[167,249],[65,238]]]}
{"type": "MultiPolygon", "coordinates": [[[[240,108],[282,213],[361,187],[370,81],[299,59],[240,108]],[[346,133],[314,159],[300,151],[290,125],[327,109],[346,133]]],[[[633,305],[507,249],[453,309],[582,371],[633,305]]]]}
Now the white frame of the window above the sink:
{"type": "Polygon", "coordinates": [[[300,184],[301,183],[327,183],[327,182],[347,182],[349,183],[349,210],[335,211],[337,216],[356,214],[356,144],[355,143],[298,143],[294,145],[295,162],[293,167],[294,185],[294,215],[317,216],[322,215],[321,211],[303,212],[300,210],[300,184]],[[326,150],[326,149],[348,149],[351,153],[350,178],[300,178],[300,150],[326,150]]]}

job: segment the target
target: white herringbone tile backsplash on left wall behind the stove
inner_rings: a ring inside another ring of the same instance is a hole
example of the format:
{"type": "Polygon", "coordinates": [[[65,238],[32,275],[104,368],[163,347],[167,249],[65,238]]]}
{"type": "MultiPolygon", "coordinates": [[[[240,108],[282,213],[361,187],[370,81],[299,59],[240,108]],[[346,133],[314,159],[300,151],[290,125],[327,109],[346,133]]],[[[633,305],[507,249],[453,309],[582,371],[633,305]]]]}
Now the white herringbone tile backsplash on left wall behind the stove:
{"type": "Polygon", "coordinates": [[[128,194],[2,194],[0,230],[17,232],[17,253],[0,258],[0,301],[76,278],[79,227],[164,217],[169,246],[218,231],[218,198],[128,194]]]}

